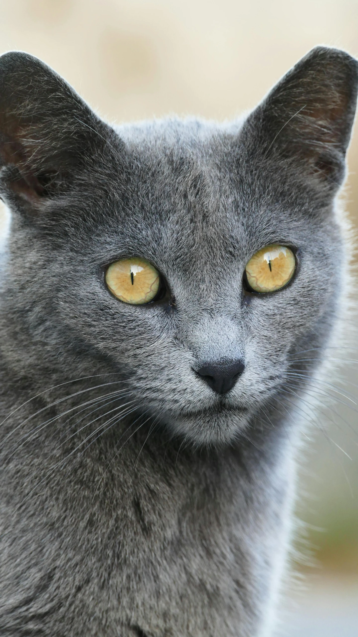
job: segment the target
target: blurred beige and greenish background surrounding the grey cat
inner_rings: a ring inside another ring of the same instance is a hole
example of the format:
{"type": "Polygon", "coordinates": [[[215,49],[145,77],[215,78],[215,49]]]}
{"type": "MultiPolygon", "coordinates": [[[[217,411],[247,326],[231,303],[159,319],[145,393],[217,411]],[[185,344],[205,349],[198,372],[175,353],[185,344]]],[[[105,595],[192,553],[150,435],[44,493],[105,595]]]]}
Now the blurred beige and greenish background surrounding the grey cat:
{"type": "MultiPolygon", "coordinates": [[[[358,55],[358,0],[0,0],[0,53],[41,57],[115,122],[173,112],[233,118],[320,43],[358,55]]],[[[357,227],[358,131],[348,161],[344,197],[357,227]]],[[[348,385],[358,382],[354,369],[344,387],[357,396],[348,385]]],[[[358,427],[350,405],[322,415],[328,428],[312,435],[302,471],[311,496],[299,515],[320,561],[316,598],[302,601],[305,615],[297,615],[305,637],[358,634],[350,615],[358,607],[358,427]],[[337,599],[334,624],[327,617],[337,599]]]]}

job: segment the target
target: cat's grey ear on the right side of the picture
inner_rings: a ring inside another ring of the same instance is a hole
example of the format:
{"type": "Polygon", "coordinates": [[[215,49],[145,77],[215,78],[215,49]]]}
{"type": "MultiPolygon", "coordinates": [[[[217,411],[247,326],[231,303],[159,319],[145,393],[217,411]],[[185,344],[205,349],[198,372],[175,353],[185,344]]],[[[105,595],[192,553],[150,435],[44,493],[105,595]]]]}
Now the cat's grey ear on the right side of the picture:
{"type": "Polygon", "coordinates": [[[334,48],[313,48],[244,126],[260,166],[265,162],[277,171],[277,161],[284,159],[281,168],[312,175],[316,183],[335,190],[345,173],[357,87],[357,60],[334,48]]]}

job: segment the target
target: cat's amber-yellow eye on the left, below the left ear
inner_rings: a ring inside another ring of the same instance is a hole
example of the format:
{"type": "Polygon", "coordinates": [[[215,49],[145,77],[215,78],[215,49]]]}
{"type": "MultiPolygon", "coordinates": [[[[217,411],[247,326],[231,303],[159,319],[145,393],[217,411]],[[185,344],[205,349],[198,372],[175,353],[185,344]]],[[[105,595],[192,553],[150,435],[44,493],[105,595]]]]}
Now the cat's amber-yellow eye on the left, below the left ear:
{"type": "Polygon", "coordinates": [[[153,301],[160,286],[160,276],[146,259],[134,257],[111,263],[106,283],[112,294],[124,303],[142,305],[153,301]]]}

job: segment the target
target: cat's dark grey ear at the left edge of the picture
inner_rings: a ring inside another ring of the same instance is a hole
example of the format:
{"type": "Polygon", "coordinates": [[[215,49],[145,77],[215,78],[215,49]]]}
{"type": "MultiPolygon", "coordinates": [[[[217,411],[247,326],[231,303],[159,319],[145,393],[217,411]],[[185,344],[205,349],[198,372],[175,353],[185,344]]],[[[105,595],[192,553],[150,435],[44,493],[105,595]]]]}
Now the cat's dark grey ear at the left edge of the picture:
{"type": "Polygon", "coordinates": [[[0,190],[38,206],[71,183],[106,143],[109,127],[36,57],[0,57],[0,190]]]}

